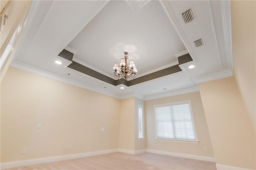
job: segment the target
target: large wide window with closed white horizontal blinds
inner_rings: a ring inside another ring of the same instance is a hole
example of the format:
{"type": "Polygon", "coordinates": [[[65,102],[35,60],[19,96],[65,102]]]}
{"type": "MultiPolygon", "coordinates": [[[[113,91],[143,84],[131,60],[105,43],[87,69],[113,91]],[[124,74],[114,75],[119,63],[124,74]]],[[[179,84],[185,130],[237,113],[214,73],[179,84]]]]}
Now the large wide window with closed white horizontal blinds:
{"type": "Polygon", "coordinates": [[[156,137],[198,141],[190,101],[156,105],[156,137]]]}

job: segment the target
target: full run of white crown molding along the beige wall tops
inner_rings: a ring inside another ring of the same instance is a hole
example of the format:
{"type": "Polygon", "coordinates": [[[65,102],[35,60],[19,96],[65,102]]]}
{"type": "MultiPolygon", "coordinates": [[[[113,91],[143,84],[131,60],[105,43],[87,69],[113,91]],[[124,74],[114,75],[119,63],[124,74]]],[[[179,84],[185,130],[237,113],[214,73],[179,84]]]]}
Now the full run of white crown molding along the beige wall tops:
{"type": "MultiPolygon", "coordinates": [[[[71,85],[74,85],[74,86],[78,86],[80,88],[91,90],[93,92],[97,92],[97,93],[104,94],[104,95],[107,95],[107,96],[110,96],[110,97],[113,97],[113,98],[121,99],[121,100],[122,99],[127,99],[127,98],[132,98],[132,97],[136,97],[136,98],[139,98],[141,100],[153,100],[153,99],[158,99],[158,98],[176,96],[176,95],[180,95],[180,94],[186,94],[186,93],[192,93],[192,92],[198,92],[199,91],[198,86],[192,86],[192,87],[188,87],[188,88],[173,90],[173,91],[159,93],[159,94],[152,94],[152,95],[147,95],[147,96],[144,96],[143,94],[140,94],[140,93],[116,94],[116,93],[109,92],[107,90],[97,88],[95,86],[91,86],[91,85],[86,84],[84,82],[81,82],[81,81],[78,81],[78,80],[73,80],[71,78],[67,78],[66,76],[62,76],[62,75],[56,74],[54,72],[50,72],[48,70],[44,70],[42,68],[38,68],[36,66],[32,66],[30,64],[26,64],[26,63],[23,63],[23,62],[20,62],[20,61],[12,62],[11,66],[13,66],[15,68],[19,68],[21,70],[26,70],[28,72],[33,72],[35,74],[46,76],[48,78],[52,78],[52,79],[58,80],[60,82],[68,83],[68,84],[71,84],[71,85]]],[[[219,70],[219,71],[216,71],[216,72],[211,72],[211,73],[208,73],[208,74],[204,74],[202,76],[193,77],[193,80],[196,81],[197,83],[201,83],[201,82],[216,80],[216,79],[219,79],[219,78],[225,78],[225,77],[228,77],[228,76],[232,76],[232,71],[230,71],[230,70],[219,70]]]]}

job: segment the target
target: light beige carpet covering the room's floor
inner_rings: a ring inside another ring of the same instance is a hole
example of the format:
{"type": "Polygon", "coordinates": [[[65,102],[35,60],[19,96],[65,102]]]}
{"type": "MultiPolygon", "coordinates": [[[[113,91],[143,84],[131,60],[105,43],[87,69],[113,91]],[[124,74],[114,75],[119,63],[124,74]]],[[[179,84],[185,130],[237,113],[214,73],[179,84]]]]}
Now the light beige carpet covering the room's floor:
{"type": "Polygon", "coordinates": [[[24,166],[12,170],[216,170],[214,162],[161,154],[111,153],[85,158],[24,166]]]}

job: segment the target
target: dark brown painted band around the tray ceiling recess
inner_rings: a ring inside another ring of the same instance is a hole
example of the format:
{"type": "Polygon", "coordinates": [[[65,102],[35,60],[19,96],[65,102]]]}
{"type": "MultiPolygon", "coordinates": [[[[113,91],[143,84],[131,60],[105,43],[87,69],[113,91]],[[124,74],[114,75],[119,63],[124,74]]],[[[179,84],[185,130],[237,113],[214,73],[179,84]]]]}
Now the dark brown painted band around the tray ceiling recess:
{"type": "Polygon", "coordinates": [[[169,74],[174,74],[176,72],[180,72],[182,71],[182,69],[180,68],[180,64],[184,64],[184,63],[188,63],[190,61],[193,61],[190,54],[187,53],[185,55],[182,55],[180,57],[178,57],[178,64],[170,66],[168,68],[164,68],[162,70],[158,70],[156,72],[152,72],[150,74],[126,81],[124,79],[121,80],[115,80],[113,78],[110,78],[100,72],[97,72],[91,68],[88,68],[87,66],[84,66],[80,63],[77,63],[75,61],[73,61],[73,56],[74,54],[71,53],[70,51],[67,51],[66,49],[63,49],[60,54],[58,55],[59,57],[62,57],[64,59],[67,59],[68,61],[72,61],[71,64],[68,65],[69,68],[72,68],[73,70],[76,70],[78,72],[82,72],[84,74],[87,74],[88,76],[92,76],[94,78],[97,78],[98,80],[102,80],[106,83],[112,84],[114,86],[120,85],[120,84],[124,84],[125,86],[133,86],[135,84],[140,84],[142,82],[146,82],[149,80],[153,80],[156,78],[160,78],[163,76],[167,76],[169,74]]]}

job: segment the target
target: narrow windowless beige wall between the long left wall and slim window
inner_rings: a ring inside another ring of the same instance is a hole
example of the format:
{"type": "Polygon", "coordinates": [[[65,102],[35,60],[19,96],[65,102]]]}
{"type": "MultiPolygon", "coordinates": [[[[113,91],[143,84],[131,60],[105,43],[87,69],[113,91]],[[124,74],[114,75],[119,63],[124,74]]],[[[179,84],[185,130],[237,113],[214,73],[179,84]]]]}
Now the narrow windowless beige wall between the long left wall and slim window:
{"type": "Polygon", "coordinates": [[[134,98],[121,100],[119,149],[134,150],[134,98]]]}

